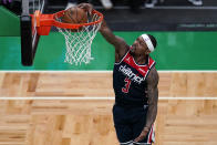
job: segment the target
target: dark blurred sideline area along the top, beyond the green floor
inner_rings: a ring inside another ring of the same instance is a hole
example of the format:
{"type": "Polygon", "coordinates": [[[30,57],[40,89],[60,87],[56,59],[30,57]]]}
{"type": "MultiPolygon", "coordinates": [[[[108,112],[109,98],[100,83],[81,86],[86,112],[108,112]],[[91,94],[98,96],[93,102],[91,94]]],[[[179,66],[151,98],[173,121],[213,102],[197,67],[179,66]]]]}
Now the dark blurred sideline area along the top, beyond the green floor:
{"type": "MultiPolygon", "coordinates": [[[[84,1],[84,0],[83,0],[84,1]]],[[[113,0],[113,9],[104,10],[100,0],[89,0],[101,11],[114,31],[216,31],[217,0],[203,0],[203,6],[193,6],[188,0],[164,0],[154,8],[132,11],[136,0],[113,0]]],[[[48,0],[45,13],[65,9],[68,0],[48,0]]],[[[14,0],[8,9],[20,15],[21,6],[14,0]]]]}

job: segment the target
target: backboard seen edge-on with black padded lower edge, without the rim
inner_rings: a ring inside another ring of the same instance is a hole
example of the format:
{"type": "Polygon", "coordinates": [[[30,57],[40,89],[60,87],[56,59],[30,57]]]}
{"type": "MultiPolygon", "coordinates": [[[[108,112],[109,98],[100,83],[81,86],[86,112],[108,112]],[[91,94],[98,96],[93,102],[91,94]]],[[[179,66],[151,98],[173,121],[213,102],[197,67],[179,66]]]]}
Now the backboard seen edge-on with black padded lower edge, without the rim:
{"type": "Polygon", "coordinates": [[[33,23],[34,12],[43,13],[46,0],[22,0],[22,13],[20,17],[21,29],[21,61],[23,65],[32,65],[40,35],[37,33],[37,25],[33,23]],[[30,14],[33,14],[30,17],[30,14]]]}

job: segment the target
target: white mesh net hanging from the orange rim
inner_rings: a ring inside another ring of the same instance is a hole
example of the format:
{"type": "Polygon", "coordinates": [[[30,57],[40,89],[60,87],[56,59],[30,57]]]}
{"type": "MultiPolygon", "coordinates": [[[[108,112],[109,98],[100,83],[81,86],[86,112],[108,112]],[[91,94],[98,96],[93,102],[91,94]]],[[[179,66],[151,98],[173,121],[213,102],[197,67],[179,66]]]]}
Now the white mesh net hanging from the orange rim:
{"type": "MultiPolygon", "coordinates": [[[[97,21],[100,17],[93,14],[89,22],[97,21]]],[[[58,19],[61,21],[61,19],[58,19]]],[[[81,65],[82,63],[90,63],[93,58],[91,56],[91,45],[95,38],[101,23],[92,25],[84,25],[78,30],[58,28],[65,38],[65,60],[70,64],[81,65]]]]}

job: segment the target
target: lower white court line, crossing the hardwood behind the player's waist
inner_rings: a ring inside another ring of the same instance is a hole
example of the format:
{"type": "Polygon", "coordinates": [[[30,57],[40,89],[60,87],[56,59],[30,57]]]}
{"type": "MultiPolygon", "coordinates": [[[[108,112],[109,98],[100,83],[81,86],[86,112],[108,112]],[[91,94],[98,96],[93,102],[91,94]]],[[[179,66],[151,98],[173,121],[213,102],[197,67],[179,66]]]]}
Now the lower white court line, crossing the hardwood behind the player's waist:
{"type": "MultiPolygon", "coordinates": [[[[95,96],[93,96],[93,97],[91,97],[91,96],[84,96],[84,97],[65,97],[65,96],[34,96],[34,97],[28,97],[28,96],[25,96],[25,97],[13,97],[13,96],[11,96],[11,97],[0,97],[0,100],[74,100],[74,101],[86,101],[86,100],[93,100],[93,101],[104,101],[104,100],[111,100],[111,101],[114,101],[115,100],[115,97],[113,97],[113,96],[97,96],[97,97],[95,97],[95,96]]],[[[198,100],[198,101],[203,101],[203,100],[208,100],[208,101],[213,101],[213,100],[217,100],[217,97],[215,97],[215,96],[213,96],[213,97],[202,97],[202,96],[194,96],[194,97],[180,97],[180,96],[178,96],[178,97],[168,97],[168,96],[162,96],[162,97],[159,97],[159,100],[183,100],[183,101],[186,101],[186,100],[188,100],[188,101],[196,101],[196,100],[198,100]]]]}

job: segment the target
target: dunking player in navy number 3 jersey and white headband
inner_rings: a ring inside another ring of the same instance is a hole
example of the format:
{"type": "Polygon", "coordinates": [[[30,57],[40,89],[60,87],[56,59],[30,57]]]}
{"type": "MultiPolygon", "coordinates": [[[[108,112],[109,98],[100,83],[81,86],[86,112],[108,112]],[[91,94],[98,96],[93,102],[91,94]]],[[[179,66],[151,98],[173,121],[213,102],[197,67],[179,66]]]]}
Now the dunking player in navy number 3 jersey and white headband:
{"type": "MultiPolygon", "coordinates": [[[[79,7],[89,12],[93,9],[89,3],[79,7]]],[[[157,42],[153,35],[142,34],[130,46],[122,38],[113,34],[105,21],[100,32],[115,48],[113,118],[120,144],[151,145],[157,115],[158,73],[149,53],[157,42]]]]}

